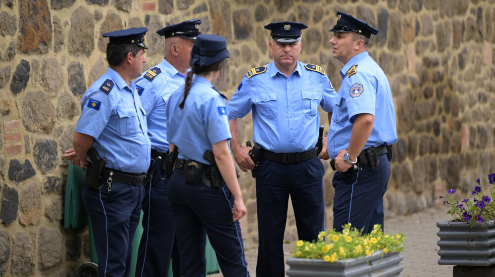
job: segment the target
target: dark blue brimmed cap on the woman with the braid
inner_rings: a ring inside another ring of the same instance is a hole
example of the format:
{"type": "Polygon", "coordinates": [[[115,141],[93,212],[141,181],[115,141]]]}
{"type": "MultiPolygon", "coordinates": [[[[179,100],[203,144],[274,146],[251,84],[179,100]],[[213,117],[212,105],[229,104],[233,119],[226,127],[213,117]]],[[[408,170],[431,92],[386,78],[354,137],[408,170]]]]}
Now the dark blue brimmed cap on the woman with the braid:
{"type": "Polygon", "coordinates": [[[191,63],[198,67],[214,64],[228,58],[227,42],[217,35],[199,35],[191,50],[191,63]]]}

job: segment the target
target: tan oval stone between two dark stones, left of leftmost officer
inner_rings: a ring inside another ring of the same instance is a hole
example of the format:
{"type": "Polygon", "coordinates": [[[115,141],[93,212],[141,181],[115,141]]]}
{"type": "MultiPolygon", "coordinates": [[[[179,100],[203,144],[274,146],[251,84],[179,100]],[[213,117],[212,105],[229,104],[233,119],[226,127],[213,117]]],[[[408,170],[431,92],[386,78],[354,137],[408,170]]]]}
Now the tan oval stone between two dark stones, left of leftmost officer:
{"type": "Polygon", "coordinates": [[[55,58],[44,59],[41,68],[41,84],[49,97],[55,97],[57,95],[63,81],[64,75],[60,63],[55,58]]]}

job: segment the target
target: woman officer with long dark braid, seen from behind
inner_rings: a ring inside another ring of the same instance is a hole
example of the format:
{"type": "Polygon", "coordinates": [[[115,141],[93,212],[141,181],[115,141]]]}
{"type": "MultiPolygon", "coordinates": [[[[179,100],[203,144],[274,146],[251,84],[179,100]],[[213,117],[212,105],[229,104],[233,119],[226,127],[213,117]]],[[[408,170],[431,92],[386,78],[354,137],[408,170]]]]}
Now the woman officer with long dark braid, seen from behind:
{"type": "Polygon", "coordinates": [[[205,276],[204,231],[223,275],[249,276],[238,222],[246,207],[229,151],[225,96],[211,85],[228,57],[223,37],[199,35],[186,84],[171,94],[166,106],[170,149],[179,152],[167,194],[181,276],[205,276]]]}

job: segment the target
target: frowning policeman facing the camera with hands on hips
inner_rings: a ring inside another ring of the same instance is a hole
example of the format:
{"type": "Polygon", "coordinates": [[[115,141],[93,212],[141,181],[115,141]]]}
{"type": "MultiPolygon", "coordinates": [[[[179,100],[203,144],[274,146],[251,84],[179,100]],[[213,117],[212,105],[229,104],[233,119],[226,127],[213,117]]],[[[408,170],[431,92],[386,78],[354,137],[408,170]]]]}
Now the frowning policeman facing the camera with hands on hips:
{"type": "Polygon", "coordinates": [[[289,195],[299,239],[317,239],[324,229],[323,164],[326,143],[316,149],[320,117],[318,106],[332,111],[335,91],[323,69],[297,60],[302,23],[277,22],[271,31],[273,61],[249,70],[229,100],[231,148],[243,171],[256,166],[258,260],[256,276],[285,276],[283,241],[289,195]],[[241,147],[237,118],[252,110],[254,148],[241,147]],[[321,151],[323,149],[323,151],[321,151]],[[256,150],[256,153],[254,153],[256,150]],[[318,156],[318,151],[321,153],[318,156]]]}

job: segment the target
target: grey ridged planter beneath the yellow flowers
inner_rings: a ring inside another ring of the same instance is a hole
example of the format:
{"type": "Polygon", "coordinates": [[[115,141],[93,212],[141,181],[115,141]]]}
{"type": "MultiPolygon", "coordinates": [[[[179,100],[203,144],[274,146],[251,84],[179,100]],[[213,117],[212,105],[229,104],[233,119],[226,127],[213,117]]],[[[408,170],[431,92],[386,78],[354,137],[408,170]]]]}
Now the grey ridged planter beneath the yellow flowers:
{"type": "Polygon", "coordinates": [[[290,277],[394,277],[399,276],[403,268],[400,253],[383,254],[379,251],[370,256],[346,259],[333,263],[316,259],[289,258],[287,271],[290,277]]]}

